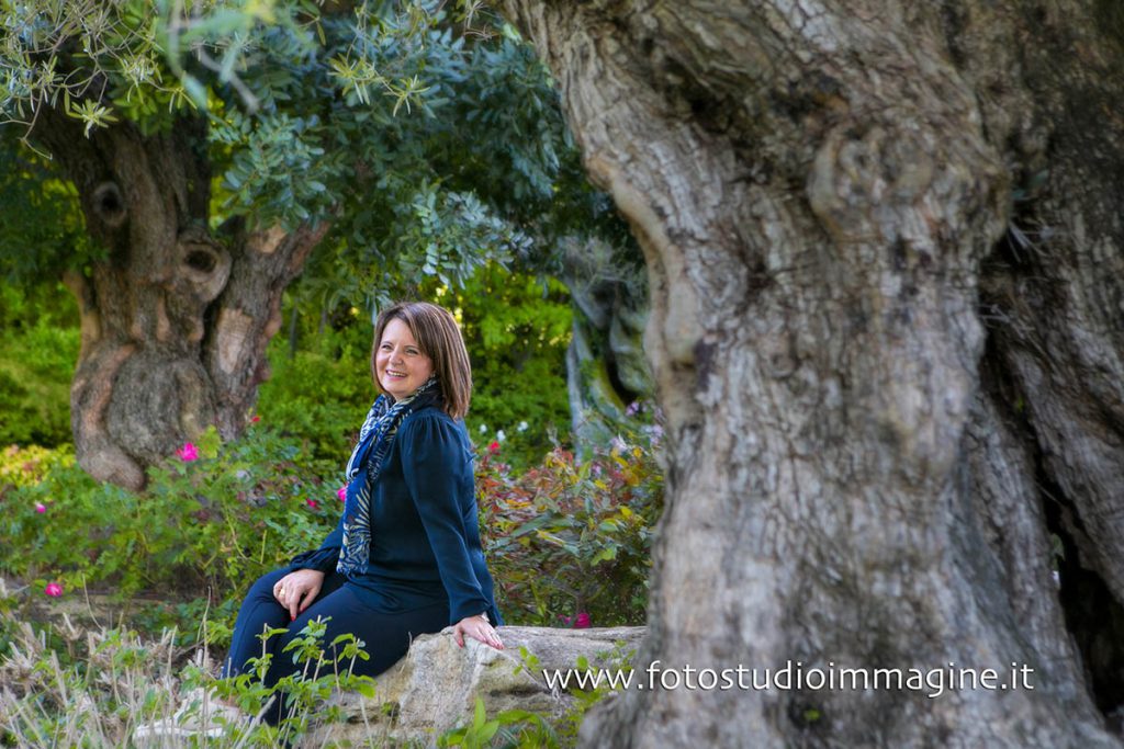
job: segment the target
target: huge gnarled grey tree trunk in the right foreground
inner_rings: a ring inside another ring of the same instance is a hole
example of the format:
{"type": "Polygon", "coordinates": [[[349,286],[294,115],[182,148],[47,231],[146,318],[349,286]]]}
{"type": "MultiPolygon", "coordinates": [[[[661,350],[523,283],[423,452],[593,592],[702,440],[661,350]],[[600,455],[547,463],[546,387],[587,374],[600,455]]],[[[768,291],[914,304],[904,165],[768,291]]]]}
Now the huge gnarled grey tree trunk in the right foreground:
{"type": "Polygon", "coordinates": [[[669,468],[638,663],[1034,669],[632,691],[586,746],[1121,746],[1124,13],[504,6],[649,268],[669,468]]]}

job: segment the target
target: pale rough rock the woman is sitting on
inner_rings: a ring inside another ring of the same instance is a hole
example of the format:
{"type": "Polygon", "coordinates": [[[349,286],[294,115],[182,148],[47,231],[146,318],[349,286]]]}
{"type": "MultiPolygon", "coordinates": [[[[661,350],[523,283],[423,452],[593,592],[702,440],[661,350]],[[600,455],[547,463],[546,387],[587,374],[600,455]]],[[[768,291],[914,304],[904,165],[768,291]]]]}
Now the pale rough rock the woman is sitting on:
{"type": "Polygon", "coordinates": [[[379,676],[373,698],[337,697],[346,722],[314,729],[307,743],[365,746],[378,737],[432,746],[442,733],[472,718],[478,696],[489,716],[513,709],[558,716],[571,706],[573,697],[552,692],[543,678],[544,669],[574,668],[580,656],[588,658],[591,667],[611,667],[614,657],[638,648],[644,631],[643,627],[501,627],[504,650],[470,639],[461,649],[452,628],[425,634],[414,641],[405,658],[379,676]],[[538,673],[519,668],[520,648],[538,659],[538,673]]]}

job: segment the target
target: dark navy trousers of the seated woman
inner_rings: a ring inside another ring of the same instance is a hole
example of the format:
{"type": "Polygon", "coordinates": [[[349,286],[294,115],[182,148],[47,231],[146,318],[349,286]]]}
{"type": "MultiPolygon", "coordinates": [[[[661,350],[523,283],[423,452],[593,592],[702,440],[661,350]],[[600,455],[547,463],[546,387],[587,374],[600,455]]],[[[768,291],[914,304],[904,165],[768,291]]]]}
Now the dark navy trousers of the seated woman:
{"type": "MultiPolygon", "coordinates": [[[[273,655],[270,669],[265,675],[268,686],[275,685],[280,679],[303,669],[302,664],[292,663],[292,651],[284,652],[284,647],[300,633],[310,620],[320,616],[330,620],[321,647],[327,660],[335,659],[332,641],[344,633],[352,633],[365,643],[363,649],[371,656],[370,660],[355,659],[353,674],[360,676],[377,676],[393,666],[409,649],[410,639],[426,632],[439,632],[448,624],[448,603],[441,602],[425,609],[416,609],[398,614],[387,614],[364,605],[356,595],[355,588],[347,578],[338,573],[329,573],[324,578],[320,593],[308,609],[298,614],[296,621],[289,621],[289,610],[273,597],[273,586],[289,574],[290,569],[274,569],[257,578],[250,593],[246,594],[238,610],[238,619],[234,625],[230,640],[230,655],[223,668],[223,676],[236,676],[245,673],[246,661],[260,658],[264,652],[273,655]],[[269,638],[264,646],[259,634],[264,628],[284,628],[284,634],[269,638]]],[[[342,661],[339,670],[344,672],[348,663],[342,661]]],[[[320,668],[320,675],[330,673],[332,665],[320,668]]],[[[274,700],[264,715],[268,723],[277,725],[285,716],[283,698],[274,700]]]]}

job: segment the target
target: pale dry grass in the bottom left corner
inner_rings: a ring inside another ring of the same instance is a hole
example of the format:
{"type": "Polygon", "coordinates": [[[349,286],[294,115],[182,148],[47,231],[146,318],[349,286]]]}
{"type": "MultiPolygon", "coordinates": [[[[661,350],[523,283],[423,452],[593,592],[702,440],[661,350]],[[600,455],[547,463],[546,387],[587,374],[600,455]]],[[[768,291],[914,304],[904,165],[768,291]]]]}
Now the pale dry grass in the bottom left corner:
{"type": "MultiPolygon", "coordinates": [[[[0,601],[7,597],[0,581],[0,601]]],[[[248,716],[225,725],[221,734],[144,740],[137,728],[208,724],[218,674],[206,648],[175,646],[175,632],[157,639],[106,627],[78,627],[69,615],[45,628],[0,611],[0,747],[243,747],[323,746],[306,731],[330,715],[321,705],[301,710],[282,730],[248,716]],[[200,700],[200,697],[202,697],[200,700]]],[[[254,687],[261,688],[260,684],[254,687]]],[[[382,737],[384,738],[384,737],[382,737]]],[[[382,746],[382,738],[372,746],[382,746]]]]}

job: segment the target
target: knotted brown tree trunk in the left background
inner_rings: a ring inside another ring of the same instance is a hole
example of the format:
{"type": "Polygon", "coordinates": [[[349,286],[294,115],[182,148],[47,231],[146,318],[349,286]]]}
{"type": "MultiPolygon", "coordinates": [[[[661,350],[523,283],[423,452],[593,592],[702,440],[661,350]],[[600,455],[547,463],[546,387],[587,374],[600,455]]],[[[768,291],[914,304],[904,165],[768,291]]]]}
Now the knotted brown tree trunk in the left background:
{"type": "Polygon", "coordinates": [[[206,121],[143,135],[94,130],[39,112],[33,138],[78,189],[89,232],[106,249],[69,273],[82,347],[71,387],[79,464],[129,488],[145,468],[216,424],[238,435],[268,373],[281,295],[326,225],[221,236],[208,226],[206,121]]]}

